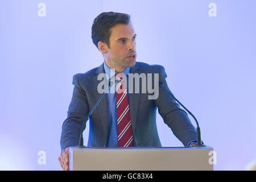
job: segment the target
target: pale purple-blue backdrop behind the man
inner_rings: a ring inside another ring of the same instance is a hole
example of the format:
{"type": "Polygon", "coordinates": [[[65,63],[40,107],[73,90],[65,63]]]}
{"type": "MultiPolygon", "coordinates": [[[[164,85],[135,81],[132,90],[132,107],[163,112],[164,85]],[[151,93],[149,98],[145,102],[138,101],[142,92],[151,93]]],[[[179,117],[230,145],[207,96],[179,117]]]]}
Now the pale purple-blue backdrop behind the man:
{"type": "MultiPolygon", "coordinates": [[[[256,158],[255,7],[253,0],[0,0],[0,169],[61,169],[72,76],[104,60],[90,38],[102,11],[131,15],[137,61],[166,68],[168,86],[217,153],[214,169],[245,169],[256,158]],[[46,17],[38,16],[40,2],[46,17]],[[216,17],[208,15],[212,2],[216,17]]],[[[157,125],[162,146],[183,146],[159,114],[157,125]]]]}

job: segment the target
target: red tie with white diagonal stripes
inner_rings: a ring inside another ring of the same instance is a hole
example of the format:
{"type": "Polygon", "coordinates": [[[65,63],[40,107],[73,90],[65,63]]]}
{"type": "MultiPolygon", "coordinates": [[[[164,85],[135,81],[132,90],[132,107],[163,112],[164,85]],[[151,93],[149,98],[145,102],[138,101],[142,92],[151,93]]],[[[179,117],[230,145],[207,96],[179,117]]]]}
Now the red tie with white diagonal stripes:
{"type": "Polygon", "coordinates": [[[119,80],[116,88],[118,147],[133,147],[130,108],[127,89],[122,76],[125,75],[115,74],[115,77],[119,80]]]}

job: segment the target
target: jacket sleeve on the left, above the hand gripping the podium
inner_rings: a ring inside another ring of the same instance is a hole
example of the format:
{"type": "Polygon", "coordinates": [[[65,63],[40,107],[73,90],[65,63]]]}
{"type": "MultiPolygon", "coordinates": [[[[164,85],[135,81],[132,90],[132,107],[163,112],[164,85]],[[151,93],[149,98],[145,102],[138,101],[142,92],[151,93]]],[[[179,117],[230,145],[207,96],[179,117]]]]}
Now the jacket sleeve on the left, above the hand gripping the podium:
{"type": "Polygon", "coordinates": [[[88,101],[84,89],[79,84],[78,74],[73,76],[73,96],[68,107],[67,119],[63,122],[60,146],[61,151],[79,144],[82,123],[88,114],[88,101]]]}

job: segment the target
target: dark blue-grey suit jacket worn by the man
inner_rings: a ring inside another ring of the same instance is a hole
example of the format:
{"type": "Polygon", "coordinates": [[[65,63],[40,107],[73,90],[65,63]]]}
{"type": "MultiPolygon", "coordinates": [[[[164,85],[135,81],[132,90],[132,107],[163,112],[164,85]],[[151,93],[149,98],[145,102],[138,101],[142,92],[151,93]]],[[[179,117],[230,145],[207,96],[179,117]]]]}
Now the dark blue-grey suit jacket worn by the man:
{"type": "MultiPolygon", "coordinates": [[[[61,150],[79,144],[82,122],[101,96],[101,93],[97,92],[97,86],[101,82],[101,80],[97,80],[97,76],[100,73],[104,73],[104,64],[86,73],[78,73],[73,76],[75,87],[68,108],[68,116],[62,126],[61,150]]],[[[154,73],[159,73],[159,81],[162,81],[168,88],[166,72],[160,65],[137,62],[134,67],[131,67],[130,73],[152,73],[153,78],[154,73]]],[[[153,83],[153,86],[157,85],[153,83]]],[[[139,93],[129,93],[131,125],[137,147],[161,147],[156,129],[156,107],[158,107],[158,112],[164,123],[171,128],[184,146],[187,146],[192,140],[196,140],[195,127],[191,124],[187,113],[180,109],[179,104],[166,90],[159,87],[159,97],[155,100],[148,100],[148,95],[150,94],[142,93],[141,88],[139,93]]],[[[106,147],[108,126],[108,99],[105,95],[90,116],[88,146],[106,147]]]]}

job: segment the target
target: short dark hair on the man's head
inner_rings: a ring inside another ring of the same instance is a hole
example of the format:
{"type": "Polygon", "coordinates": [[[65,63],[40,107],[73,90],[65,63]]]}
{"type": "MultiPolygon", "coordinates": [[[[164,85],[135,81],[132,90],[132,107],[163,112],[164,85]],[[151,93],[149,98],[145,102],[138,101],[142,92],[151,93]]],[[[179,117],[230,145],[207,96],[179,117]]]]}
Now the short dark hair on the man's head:
{"type": "MultiPolygon", "coordinates": [[[[115,13],[113,11],[104,12],[98,15],[92,25],[92,41],[98,48],[98,42],[104,42],[109,47],[110,28],[116,24],[130,23],[130,15],[125,13],[115,13]]],[[[109,47],[110,48],[110,47],[109,47]]]]}

